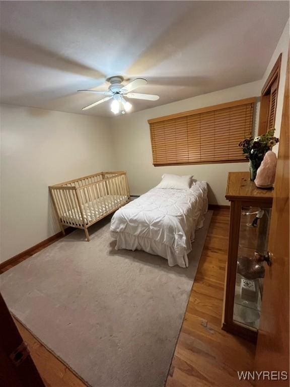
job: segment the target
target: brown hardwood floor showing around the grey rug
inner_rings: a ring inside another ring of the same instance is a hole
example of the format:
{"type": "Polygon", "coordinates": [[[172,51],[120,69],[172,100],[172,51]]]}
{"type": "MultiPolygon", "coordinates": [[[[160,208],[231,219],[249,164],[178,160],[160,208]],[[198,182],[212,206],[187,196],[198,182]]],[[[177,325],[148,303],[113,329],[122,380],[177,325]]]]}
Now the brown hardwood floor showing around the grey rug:
{"type": "MultiPolygon", "coordinates": [[[[213,212],[166,387],[251,385],[238,380],[237,370],[251,370],[254,345],[221,330],[229,215],[228,209],[213,212]]],[[[85,386],[20,322],[16,324],[47,387],[85,386]]]]}

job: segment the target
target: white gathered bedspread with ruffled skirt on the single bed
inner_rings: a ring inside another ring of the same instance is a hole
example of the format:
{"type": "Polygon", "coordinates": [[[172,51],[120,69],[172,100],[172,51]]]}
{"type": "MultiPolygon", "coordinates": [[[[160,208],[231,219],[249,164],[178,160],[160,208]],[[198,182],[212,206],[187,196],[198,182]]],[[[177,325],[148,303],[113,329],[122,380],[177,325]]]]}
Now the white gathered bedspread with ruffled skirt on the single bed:
{"type": "Polygon", "coordinates": [[[195,230],[207,211],[207,186],[197,181],[190,189],[153,188],[115,212],[111,235],[116,249],[142,249],[188,266],[195,230]]]}

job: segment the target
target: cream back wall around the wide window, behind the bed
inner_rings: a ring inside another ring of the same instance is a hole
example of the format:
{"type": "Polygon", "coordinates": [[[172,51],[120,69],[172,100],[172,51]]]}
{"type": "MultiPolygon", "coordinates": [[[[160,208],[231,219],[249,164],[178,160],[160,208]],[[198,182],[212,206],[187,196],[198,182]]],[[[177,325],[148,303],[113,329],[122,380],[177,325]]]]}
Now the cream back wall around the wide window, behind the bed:
{"type": "MultiPolygon", "coordinates": [[[[225,163],[154,167],[147,120],[238,99],[258,97],[260,93],[261,82],[257,81],[111,118],[118,168],[124,169],[128,173],[131,195],[141,195],[157,185],[163,173],[193,174],[197,180],[208,182],[210,204],[228,205],[229,202],[225,199],[228,172],[248,170],[248,164],[225,163]]],[[[258,113],[259,103],[256,104],[254,110],[255,132],[258,125],[258,113]]]]}

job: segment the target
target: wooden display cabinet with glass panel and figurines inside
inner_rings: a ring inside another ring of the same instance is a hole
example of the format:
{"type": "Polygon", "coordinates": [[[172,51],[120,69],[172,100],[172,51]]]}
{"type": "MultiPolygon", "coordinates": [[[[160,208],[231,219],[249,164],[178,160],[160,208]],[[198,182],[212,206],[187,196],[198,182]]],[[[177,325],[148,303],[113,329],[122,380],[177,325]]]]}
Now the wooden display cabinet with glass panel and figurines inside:
{"type": "Polygon", "coordinates": [[[273,191],[258,189],[249,172],[230,172],[231,203],[223,330],[256,341],[273,191]]]}

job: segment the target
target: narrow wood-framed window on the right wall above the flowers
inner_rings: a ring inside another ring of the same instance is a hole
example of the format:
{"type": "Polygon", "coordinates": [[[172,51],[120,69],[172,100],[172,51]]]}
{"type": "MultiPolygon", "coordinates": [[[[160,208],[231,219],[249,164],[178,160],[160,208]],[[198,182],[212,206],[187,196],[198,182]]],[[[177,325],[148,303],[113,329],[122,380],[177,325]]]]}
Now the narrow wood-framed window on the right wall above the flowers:
{"type": "Polygon", "coordinates": [[[280,54],[276,60],[276,63],[274,64],[274,67],[262,89],[258,130],[259,135],[263,135],[275,125],[281,57],[282,54],[280,54]]]}

